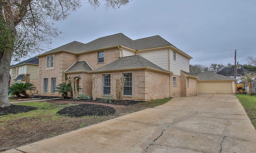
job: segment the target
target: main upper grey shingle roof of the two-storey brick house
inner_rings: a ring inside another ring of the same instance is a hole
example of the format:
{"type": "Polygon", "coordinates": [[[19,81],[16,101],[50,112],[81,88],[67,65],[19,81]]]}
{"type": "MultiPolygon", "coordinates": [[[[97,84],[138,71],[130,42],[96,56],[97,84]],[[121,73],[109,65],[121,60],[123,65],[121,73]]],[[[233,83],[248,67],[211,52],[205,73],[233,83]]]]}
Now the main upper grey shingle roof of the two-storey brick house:
{"type": "Polygon", "coordinates": [[[147,37],[147,38],[142,38],[142,39],[137,39],[137,40],[132,40],[123,33],[117,33],[114,35],[109,35],[106,37],[101,37],[98,39],[95,39],[94,41],[91,41],[89,43],[79,43],[77,41],[73,41],[71,43],[68,43],[66,45],[60,46],[56,49],[52,49],[51,51],[48,51],[44,54],[49,54],[49,53],[54,53],[57,51],[69,51],[72,53],[84,53],[88,51],[94,51],[98,49],[104,49],[107,47],[114,47],[114,46],[119,46],[123,45],[135,50],[140,50],[140,49],[149,49],[149,48],[154,48],[154,47],[164,47],[164,46],[169,46],[172,45],[159,35],[152,36],[152,37],[147,37]]]}

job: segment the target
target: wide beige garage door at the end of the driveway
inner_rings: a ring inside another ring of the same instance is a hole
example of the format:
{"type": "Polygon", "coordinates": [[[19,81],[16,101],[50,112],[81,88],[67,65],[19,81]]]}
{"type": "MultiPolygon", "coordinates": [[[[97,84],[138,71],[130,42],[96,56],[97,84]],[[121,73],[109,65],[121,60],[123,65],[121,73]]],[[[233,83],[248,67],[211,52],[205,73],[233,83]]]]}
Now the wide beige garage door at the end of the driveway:
{"type": "Polygon", "coordinates": [[[232,82],[198,82],[198,94],[232,94],[232,82]]]}

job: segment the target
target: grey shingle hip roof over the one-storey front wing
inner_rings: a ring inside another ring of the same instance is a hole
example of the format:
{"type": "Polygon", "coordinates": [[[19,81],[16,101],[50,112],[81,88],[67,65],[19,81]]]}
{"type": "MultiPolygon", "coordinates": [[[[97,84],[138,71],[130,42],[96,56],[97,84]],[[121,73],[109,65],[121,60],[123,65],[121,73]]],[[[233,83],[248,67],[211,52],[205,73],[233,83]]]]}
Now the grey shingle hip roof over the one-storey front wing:
{"type": "MultiPolygon", "coordinates": [[[[120,70],[120,69],[132,69],[132,68],[140,68],[140,67],[150,67],[153,69],[158,69],[160,71],[166,71],[161,67],[153,64],[152,62],[146,60],[140,55],[128,56],[128,57],[120,57],[116,61],[105,65],[93,72],[97,71],[109,71],[109,70],[120,70]]],[[[169,71],[166,71],[169,72],[169,71]]],[[[170,72],[169,72],[170,73],[170,72]]]]}

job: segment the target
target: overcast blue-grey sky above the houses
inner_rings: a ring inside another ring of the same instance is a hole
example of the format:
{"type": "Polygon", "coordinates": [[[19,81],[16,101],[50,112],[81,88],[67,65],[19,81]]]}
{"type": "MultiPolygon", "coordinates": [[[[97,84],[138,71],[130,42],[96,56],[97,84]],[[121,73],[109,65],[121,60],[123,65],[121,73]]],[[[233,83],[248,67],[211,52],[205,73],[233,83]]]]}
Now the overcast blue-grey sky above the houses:
{"type": "Polygon", "coordinates": [[[246,64],[256,57],[256,0],[132,0],[108,11],[88,3],[62,23],[50,47],[88,43],[123,33],[131,39],[160,35],[193,59],[190,64],[246,64]]]}

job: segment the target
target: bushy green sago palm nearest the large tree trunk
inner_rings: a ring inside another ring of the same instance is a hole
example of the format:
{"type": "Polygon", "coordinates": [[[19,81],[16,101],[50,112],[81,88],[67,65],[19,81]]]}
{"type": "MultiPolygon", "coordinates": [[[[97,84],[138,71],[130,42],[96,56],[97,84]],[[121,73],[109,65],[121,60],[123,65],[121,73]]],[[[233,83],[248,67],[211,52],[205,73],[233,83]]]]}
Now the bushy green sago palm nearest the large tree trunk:
{"type": "Polygon", "coordinates": [[[36,90],[32,83],[14,83],[9,87],[9,92],[15,94],[19,98],[33,98],[33,95],[27,94],[26,90],[36,90]],[[24,96],[21,96],[23,94],[24,96]]]}

